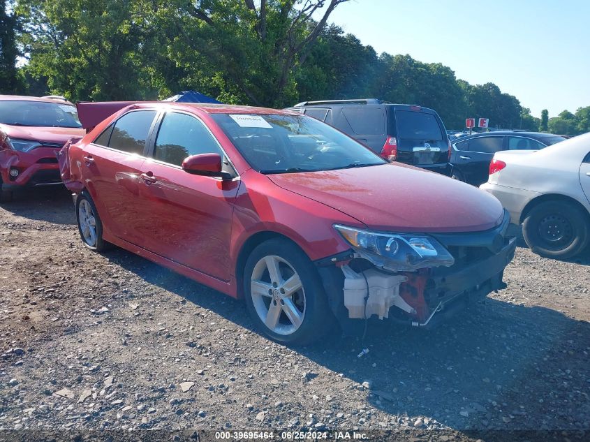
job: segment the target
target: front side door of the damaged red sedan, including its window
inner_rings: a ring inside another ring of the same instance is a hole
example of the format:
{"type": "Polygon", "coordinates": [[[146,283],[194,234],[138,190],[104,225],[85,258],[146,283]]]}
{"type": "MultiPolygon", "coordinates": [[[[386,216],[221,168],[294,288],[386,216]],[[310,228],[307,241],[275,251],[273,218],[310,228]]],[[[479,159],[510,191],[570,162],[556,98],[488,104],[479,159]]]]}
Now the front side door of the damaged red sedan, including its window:
{"type": "Polygon", "coordinates": [[[239,179],[191,175],[182,161],[216,153],[217,140],[202,121],[167,112],[156,135],[152,159],[142,165],[142,224],[145,249],[176,263],[229,281],[233,202],[239,179]]]}

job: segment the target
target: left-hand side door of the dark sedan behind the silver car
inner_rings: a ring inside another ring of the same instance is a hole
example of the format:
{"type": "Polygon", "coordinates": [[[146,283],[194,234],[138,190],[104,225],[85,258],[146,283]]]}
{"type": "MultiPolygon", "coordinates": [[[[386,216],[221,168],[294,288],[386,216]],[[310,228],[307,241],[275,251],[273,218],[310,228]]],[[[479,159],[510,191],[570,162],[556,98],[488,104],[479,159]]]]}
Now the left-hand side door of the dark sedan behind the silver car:
{"type": "Polygon", "coordinates": [[[463,152],[462,156],[459,156],[459,159],[464,158],[462,170],[467,182],[474,186],[487,182],[489,163],[496,152],[503,150],[503,142],[503,135],[489,135],[469,140],[469,152],[463,152]]]}

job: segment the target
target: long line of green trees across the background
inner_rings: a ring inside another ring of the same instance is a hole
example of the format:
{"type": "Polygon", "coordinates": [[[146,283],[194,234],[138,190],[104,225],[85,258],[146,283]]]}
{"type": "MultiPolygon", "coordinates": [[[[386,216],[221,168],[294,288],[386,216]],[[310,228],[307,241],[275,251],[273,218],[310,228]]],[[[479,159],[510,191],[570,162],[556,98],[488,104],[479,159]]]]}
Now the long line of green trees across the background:
{"type": "Polygon", "coordinates": [[[448,128],[487,117],[496,128],[590,131],[590,107],[540,119],[492,82],[377,54],[327,24],[346,1],[0,0],[0,93],[155,100],[195,89],[274,108],[376,97],[434,108],[448,128]]]}

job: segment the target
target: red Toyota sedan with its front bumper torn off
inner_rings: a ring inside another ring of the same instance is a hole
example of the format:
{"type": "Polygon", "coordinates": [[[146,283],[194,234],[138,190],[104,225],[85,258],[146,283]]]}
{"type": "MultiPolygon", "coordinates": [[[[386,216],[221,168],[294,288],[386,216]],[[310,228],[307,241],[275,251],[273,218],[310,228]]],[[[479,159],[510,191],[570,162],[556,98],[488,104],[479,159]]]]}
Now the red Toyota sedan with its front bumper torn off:
{"type": "Polygon", "coordinates": [[[330,318],[432,325],[503,288],[515,251],[496,198],[294,112],[135,103],[62,153],[86,246],[244,297],[277,341],[330,318]]]}

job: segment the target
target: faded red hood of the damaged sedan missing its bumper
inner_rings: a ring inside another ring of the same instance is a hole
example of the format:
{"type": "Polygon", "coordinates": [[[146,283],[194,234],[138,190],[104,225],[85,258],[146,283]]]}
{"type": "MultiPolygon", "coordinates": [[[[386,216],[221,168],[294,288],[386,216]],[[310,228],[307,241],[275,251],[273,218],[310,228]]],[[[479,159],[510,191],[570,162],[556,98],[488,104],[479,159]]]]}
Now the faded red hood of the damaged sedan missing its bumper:
{"type": "Polygon", "coordinates": [[[376,230],[476,232],[503,219],[502,205],[489,193],[399,163],[267,176],[376,230]]]}

